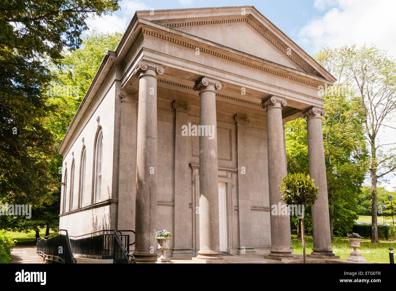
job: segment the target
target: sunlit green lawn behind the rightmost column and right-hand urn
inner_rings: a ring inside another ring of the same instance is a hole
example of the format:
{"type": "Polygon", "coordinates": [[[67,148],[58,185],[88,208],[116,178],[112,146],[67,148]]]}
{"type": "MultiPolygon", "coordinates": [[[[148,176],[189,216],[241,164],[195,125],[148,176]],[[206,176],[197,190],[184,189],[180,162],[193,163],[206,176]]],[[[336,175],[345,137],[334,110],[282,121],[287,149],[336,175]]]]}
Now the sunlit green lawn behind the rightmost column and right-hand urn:
{"type": "MultiPolygon", "coordinates": [[[[291,235],[291,244],[293,245],[295,254],[303,253],[303,246],[301,241],[297,239],[297,235],[291,235]]],[[[334,237],[331,243],[334,254],[341,256],[341,259],[348,258],[348,255],[353,251],[349,245],[349,241],[345,237],[334,237]]],[[[305,251],[307,254],[312,252],[313,241],[312,236],[305,237],[305,251]]],[[[371,243],[369,239],[362,239],[360,242],[359,252],[363,254],[367,262],[389,264],[389,250],[388,248],[396,247],[396,241],[379,241],[379,243],[371,243]]]]}

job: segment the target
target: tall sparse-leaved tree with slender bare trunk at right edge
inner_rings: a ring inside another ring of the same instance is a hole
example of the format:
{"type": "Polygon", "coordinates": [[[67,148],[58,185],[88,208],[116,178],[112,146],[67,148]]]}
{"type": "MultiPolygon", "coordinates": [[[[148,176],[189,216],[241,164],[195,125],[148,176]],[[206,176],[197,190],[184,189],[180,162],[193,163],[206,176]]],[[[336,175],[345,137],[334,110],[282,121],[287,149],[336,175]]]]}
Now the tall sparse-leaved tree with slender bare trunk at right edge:
{"type": "MultiPolygon", "coordinates": [[[[317,56],[327,68],[333,68],[339,84],[350,96],[356,97],[358,115],[363,119],[362,129],[369,148],[368,172],[371,179],[371,241],[378,243],[377,183],[396,170],[396,148],[387,152],[377,139],[380,130],[396,129],[392,119],[396,113],[396,62],[375,46],[324,50],[317,56]],[[328,55],[330,57],[328,57],[328,55]]],[[[357,158],[366,160],[365,157],[357,158]]]]}

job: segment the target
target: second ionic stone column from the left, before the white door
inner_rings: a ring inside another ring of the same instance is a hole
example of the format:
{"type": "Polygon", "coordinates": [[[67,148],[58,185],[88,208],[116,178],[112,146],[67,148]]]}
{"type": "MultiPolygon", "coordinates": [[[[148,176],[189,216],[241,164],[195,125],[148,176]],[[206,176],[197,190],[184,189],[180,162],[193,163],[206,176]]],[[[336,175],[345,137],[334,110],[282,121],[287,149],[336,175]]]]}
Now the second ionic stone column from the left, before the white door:
{"type": "Polygon", "coordinates": [[[194,91],[200,95],[200,126],[212,130],[213,139],[201,133],[199,137],[199,224],[200,250],[198,259],[221,260],[219,238],[219,183],[217,167],[216,89],[221,83],[203,77],[194,91]]]}

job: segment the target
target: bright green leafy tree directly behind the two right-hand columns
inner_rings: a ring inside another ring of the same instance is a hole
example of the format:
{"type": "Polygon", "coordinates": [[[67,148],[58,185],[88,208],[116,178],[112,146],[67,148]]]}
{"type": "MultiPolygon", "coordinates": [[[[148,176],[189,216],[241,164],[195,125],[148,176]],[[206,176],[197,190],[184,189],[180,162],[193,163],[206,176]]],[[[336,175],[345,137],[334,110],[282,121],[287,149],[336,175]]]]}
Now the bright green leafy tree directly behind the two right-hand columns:
{"type": "MultiPolygon", "coordinates": [[[[325,49],[314,58],[338,79],[345,73],[348,50],[325,49]]],[[[358,218],[357,197],[368,168],[360,98],[348,83],[325,88],[322,117],[331,238],[352,229],[358,218]]],[[[289,172],[308,173],[307,124],[302,118],[286,123],[289,172]]],[[[308,219],[307,219],[308,222],[308,219]]],[[[307,226],[307,223],[305,224],[307,226]]],[[[300,229],[298,234],[301,233],[300,229]]]]}

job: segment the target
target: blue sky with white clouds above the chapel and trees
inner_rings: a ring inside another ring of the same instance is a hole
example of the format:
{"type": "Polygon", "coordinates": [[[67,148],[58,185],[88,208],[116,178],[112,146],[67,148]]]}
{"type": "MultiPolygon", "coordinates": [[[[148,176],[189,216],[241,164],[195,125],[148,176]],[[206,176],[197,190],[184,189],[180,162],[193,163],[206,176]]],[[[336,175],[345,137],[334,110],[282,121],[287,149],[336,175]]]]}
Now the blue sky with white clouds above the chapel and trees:
{"type": "MultiPolygon", "coordinates": [[[[122,0],[121,9],[101,19],[89,19],[88,27],[97,32],[124,33],[136,10],[162,10],[199,7],[253,5],[308,54],[325,47],[374,44],[396,57],[395,0],[122,0]]],[[[394,122],[396,123],[396,122],[394,122]]],[[[396,132],[385,128],[379,133],[381,144],[394,143],[396,132]]],[[[394,145],[393,145],[394,146],[394,145]]],[[[389,148],[390,146],[388,146],[389,148]]],[[[387,150],[384,147],[384,150],[387,150]]],[[[396,179],[386,175],[388,191],[396,179]]],[[[367,179],[366,184],[370,184],[367,179]]]]}

